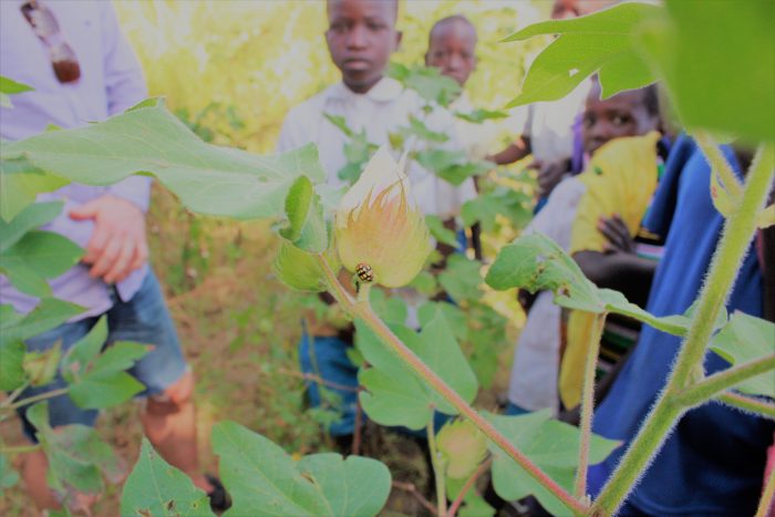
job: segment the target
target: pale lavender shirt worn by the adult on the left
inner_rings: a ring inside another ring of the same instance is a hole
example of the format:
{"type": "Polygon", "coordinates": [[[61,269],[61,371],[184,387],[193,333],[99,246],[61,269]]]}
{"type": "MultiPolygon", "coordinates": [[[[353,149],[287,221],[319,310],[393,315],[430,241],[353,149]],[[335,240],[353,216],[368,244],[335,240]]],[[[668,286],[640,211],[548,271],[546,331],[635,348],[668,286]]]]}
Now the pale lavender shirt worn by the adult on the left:
{"type": "MultiPolygon", "coordinates": [[[[0,2],[0,75],[24,83],[32,92],[11,96],[12,108],[0,108],[0,136],[8,141],[25,138],[46,125],[71,128],[104,121],[147,96],[137,59],[121,32],[113,6],[107,1],[43,1],[56,18],[64,41],[75,52],[81,79],[62,84],[56,80],[48,49],[32,32],[20,7],[22,0],[0,2]]],[[[75,221],[68,213],[92,199],[111,194],[147,210],[151,179],[133,176],[110,187],[71,184],[55,193],[41,194],[38,200],[64,199],[62,214],[42,229],[56,231],[85,248],[93,223],[75,221]]],[[[123,300],[140,289],[147,265],[133,271],[116,288],[123,300]]],[[[105,312],[113,304],[110,286],[89,276],[78,265],[50,280],[55,298],[85,307],[75,319],[105,312]]],[[[11,287],[0,275],[0,303],[12,303],[20,312],[30,311],[35,298],[11,287]]]]}

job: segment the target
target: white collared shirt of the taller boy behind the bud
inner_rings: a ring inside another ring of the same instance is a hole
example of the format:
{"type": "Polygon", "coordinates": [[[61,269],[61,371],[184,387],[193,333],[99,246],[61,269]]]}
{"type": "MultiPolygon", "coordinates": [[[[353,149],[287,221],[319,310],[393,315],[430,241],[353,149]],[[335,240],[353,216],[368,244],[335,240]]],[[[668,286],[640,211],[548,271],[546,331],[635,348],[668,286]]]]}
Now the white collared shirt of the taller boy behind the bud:
{"type": "MultiPolygon", "coordinates": [[[[410,115],[422,118],[422,107],[423,101],[415,92],[405,90],[401,83],[390,77],[383,77],[363,94],[354,93],[339,82],[288,113],[277,149],[286,152],[310,142],[317,144],[329,185],[342,187],[344,182],[338,177],[338,173],[348,163],[344,155],[348,136],[323,115],[342,116],[351,130],[365,130],[369,142],[383,145],[389,142],[391,132],[409,125],[410,115]]],[[[463,148],[454,131],[455,121],[448,112],[434,110],[425,123],[432,131],[450,136],[443,147],[463,148]]],[[[420,148],[421,145],[417,146],[420,148]]],[[[454,217],[463,203],[475,195],[471,178],[461,187],[455,187],[416,163],[410,165],[409,178],[415,199],[425,214],[454,217]]]]}

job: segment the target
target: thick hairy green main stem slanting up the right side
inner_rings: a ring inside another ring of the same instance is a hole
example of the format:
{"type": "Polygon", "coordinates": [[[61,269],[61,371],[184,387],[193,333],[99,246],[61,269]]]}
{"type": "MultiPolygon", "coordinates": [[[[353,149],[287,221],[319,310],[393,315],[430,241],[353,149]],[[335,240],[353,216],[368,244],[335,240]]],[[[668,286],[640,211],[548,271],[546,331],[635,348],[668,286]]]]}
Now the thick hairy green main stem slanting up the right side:
{"type": "Polygon", "coordinates": [[[632,490],[664,436],[685,411],[674,401],[675,392],[686,387],[691,373],[702,364],[714,322],[732,288],[740,265],[756,229],[756,214],[769,192],[774,147],[761,145],[748,172],[743,197],[724,225],[723,235],[711,261],[707,281],[702,287],[689,334],[679,349],[668,384],[641,425],[621,462],[592,505],[593,514],[612,515],[632,490]]]}

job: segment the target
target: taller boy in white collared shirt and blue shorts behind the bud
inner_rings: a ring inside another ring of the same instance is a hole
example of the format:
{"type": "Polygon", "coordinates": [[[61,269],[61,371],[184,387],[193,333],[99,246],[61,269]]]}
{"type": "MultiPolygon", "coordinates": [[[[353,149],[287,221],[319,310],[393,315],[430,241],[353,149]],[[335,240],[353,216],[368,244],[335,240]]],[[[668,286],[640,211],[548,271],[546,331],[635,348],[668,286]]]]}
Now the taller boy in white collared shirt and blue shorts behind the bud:
{"type": "MultiPolygon", "coordinates": [[[[290,111],[280,133],[278,151],[316,143],[328,173],[328,184],[341,187],[344,183],[337,173],[347,164],[343,151],[347,136],[324,115],[343,117],[352,130],[365,130],[369,142],[382,145],[389,142],[391,132],[407,124],[411,114],[423,116],[423,101],[384,74],[391,53],[401,42],[401,32],[395,29],[397,0],[329,0],[326,7],[329,20],[326,41],[332,61],[342,73],[342,82],[290,111]]],[[[434,111],[426,124],[433,131],[453,135],[454,121],[447,112],[434,111]]],[[[451,143],[456,146],[454,135],[451,143]]],[[[463,189],[417,164],[410,165],[409,177],[425,214],[448,219],[456,216],[467,200],[463,189]]],[[[341,418],[330,425],[329,432],[345,447],[354,431],[358,387],[358,368],[347,356],[351,334],[348,329],[328,324],[316,324],[308,331],[299,351],[302,370],[314,372],[341,387],[330,389],[341,397],[343,407],[341,418]]],[[[310,385],[309,395],[312,405],[320,404],[317,385],[310,385]]]]}

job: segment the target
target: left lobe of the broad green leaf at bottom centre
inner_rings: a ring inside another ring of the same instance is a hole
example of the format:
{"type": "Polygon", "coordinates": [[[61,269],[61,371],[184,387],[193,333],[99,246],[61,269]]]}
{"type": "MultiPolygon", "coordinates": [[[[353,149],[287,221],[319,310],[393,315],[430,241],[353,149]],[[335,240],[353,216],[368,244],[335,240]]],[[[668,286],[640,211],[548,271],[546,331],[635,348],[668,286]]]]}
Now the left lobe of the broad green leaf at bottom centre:
{"type": "Polygon", "coordinates": [[[213,427],[213,451],[231,495],[226,515],[331,515],[317,483],[282,448],[234,422],[213,427]]]}

